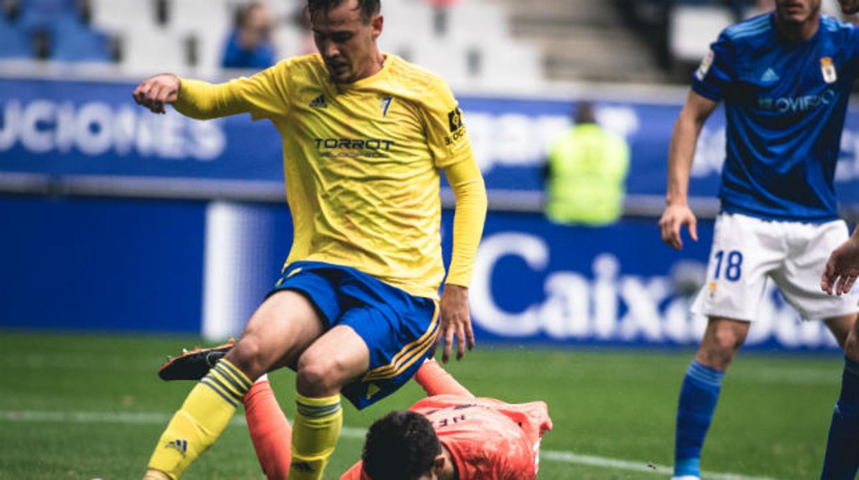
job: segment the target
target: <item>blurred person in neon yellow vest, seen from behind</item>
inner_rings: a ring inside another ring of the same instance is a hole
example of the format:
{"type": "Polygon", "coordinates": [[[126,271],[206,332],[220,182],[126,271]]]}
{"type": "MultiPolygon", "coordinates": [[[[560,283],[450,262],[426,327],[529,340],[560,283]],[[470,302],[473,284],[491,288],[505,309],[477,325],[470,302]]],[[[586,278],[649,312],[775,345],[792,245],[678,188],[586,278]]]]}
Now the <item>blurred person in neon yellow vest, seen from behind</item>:
{"type": "Polygon", "coordinates": [[[556,223],[608,225],[623,213],[629,146],[597,125],[587,101],[576,107],[575,121],[549,150],[545,215],[556,223]]]}

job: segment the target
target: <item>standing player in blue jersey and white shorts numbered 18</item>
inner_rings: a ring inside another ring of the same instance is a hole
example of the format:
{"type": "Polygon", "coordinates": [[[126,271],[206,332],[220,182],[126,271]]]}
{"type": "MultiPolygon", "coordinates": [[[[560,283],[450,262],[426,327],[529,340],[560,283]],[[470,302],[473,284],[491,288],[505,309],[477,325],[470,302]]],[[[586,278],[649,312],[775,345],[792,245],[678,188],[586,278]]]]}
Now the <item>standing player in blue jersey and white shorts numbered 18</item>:
{"type": "MultiPolygon", "coordinates": [[[[854,2],[842,1],[842,8],[854,2]]],[[[804,319],[823,319],[848,353],[823,478],[856,476],[856,296],[827,296],[817,285],[826,255],[848,234],[832,184],[857,75],[859,30],[820,15],[820,0],[777,0],[774,12],[726,28],[695,73],[668,155],[660,220],[667,245],[683,246],[684,225],[698,240],[687,204],[689,173],[701,127],[720,101],[728,142],[707,283],[693,306],[709,322],[680,390],[675,479],[700,477],[722,375],[769,280],[804,319]]]]}

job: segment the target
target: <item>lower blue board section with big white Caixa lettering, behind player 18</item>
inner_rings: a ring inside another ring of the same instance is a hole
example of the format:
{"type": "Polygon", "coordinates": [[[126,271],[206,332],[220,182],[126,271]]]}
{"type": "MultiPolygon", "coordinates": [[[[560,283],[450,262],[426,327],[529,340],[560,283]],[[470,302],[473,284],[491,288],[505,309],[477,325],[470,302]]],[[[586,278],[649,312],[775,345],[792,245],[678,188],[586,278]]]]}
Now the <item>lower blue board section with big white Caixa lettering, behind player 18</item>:
{"type": "MultiPolygon", "coordinates": [[[[704,283],[713,222],[698,222],[698,235],[677,252],[662,244],[655,220],[584,228],[491,213],[469,292],[476,335],[556,345],[697,343],[706,319],[690,306],[704,283]]],[[[746,347],[838,344],[822,322],[802,321],[771,284],[746,347]]]]}

